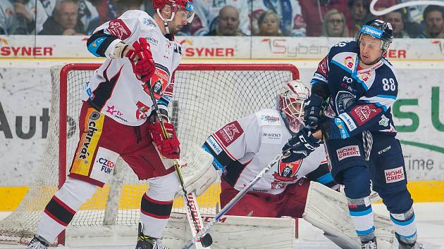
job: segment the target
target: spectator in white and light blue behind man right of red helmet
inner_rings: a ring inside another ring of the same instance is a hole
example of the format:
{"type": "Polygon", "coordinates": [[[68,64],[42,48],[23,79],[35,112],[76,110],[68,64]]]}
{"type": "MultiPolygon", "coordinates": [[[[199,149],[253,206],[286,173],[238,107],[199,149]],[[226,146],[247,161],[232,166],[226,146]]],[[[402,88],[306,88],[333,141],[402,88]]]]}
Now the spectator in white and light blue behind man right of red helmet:
{"type": "Polygon", "coordinates": [[[224,6],[232,6],[238,10],[240,30],[243,34],[250,34],[248,15],[251,8],[247,0],[193,0],[193,3],[195,3],[195,18],[188,25],[187,35],[214,34],[216,26],[219,25],[218,15],[224,6]]]}

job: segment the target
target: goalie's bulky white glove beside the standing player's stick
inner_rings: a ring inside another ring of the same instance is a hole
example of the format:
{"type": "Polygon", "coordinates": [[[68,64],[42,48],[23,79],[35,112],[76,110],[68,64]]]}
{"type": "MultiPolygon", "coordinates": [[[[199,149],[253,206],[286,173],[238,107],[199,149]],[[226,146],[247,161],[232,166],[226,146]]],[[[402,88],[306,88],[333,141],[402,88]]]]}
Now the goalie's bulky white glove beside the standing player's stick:
{"type": "MultiPolygon", "coordinates": [[[[218,179],[212,162],[213,156],[197,146],[191,146],[186,154],[181,156],[180,173],[188,193],[195,191],[196,196],[201,196],[218,179]]],[[[183,196],[181,187],[175,196],[183,196]]]]}

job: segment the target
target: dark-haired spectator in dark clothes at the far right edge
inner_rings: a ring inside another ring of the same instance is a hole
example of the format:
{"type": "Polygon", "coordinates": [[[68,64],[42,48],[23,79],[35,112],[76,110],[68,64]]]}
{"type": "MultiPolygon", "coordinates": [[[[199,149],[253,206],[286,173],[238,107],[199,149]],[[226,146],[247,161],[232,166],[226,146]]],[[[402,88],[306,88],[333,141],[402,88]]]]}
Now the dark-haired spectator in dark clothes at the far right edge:
{"type": "Polygon", "coordinates": [[[426,29],[418,38],[444,38],[444,9],[440,6],[429,5],[423,15],[426,29]]]}

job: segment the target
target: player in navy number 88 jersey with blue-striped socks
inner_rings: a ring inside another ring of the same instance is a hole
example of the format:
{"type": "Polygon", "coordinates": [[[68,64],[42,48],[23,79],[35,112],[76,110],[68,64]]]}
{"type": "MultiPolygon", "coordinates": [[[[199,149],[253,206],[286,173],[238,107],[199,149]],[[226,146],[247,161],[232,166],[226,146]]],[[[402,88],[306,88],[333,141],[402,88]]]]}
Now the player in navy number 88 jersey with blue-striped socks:
{"type": "Polygon", "coordinates": [[[371,20],[362,26],[356,41],[331,48],[314,73],[305,106],[304,122],[311,131],[302,129],[288,144],[292,147],[288,161],[304,158],[319,146],[315,131],[322,130],[331,174],[345,186],[363,249],[377,248],[371,184],[390,212],[397,238],[393,248],[424,248],[417,242],[413,200],[391,115],[397,77],[384,54],[392,39],[390,23],[371,20]]]}

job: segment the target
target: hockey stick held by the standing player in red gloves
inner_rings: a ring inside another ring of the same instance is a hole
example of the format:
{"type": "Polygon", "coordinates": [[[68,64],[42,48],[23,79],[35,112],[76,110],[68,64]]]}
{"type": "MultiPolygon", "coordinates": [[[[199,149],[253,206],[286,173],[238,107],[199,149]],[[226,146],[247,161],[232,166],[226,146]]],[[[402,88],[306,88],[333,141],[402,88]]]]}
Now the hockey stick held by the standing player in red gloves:
{"type": "MultiPolygon", "coordinates": [[[[149,82],[145,82],[145,84],[147,84],[147,88],[149,89],[149,97],[151,98],[151,100],[153,102],[154,110],[156,110],[156,116],[157,116],[157,119],[159,120],[161,129],[162,129],[162,136],[164,136],[164,139],[167,139],[167,133],[166,133],[166,129],[164,126],[164,119],[162,118],[162,115],[160,113],[159,106],[157,106],[156,98],[154,98],[154,91],[151,87],[151,84],[149,84],[149,82]]],[[[200,231],[202,231],[201,229],[202,229],[204,222],[202,221],[202,217],[200,216],[199,207],[197,206],[197,200],[196,200],[195,194],[194,193],[187,193],[187,190],[185,189],[185,184],[183,183],[183,177],[182,177],[182,174],[180,174],[178,160],[173,160],[173,162],[174,162],[175,172],[177,172],[177,174],[178,174],[180,186],[182,187],[182,191],[184,193],[183,196],[185,198],[185,203],[187,205],[188,221],[192,220],[192,222],[190,222],[190,225],[194,226],[194,227],[192,227],[192,234],[194,236],[195,233],[199,234],[200,231]],[[190,198],[192,198],[192,200],[190,200],[190,198]],[[196,230],[196,231],[194,231],[194,230],[196,230]]],[[[202,235],[203,234],[204,233],[202,233],[202,235]]],[[[204,248],[207,248],[213,243],[213,238],[211,238],[210,234],[205,234],[205,236],[202,236],[202,238],[200,238],[200,243],[202,243],[202,246],[204,248]]]]}

